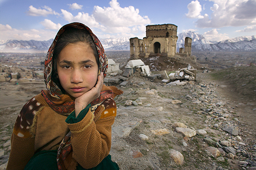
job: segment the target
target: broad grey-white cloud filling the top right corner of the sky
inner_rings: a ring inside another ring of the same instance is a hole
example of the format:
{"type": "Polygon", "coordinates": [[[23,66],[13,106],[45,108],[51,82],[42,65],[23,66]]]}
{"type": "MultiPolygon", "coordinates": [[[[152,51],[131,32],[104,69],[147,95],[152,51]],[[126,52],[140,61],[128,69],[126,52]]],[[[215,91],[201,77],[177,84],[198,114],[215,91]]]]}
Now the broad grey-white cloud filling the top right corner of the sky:
{"type": "Polygon", "coordinates": [[[207,0],[215,4],[210,17],[205,14],[196,21],[199,28],[221,28],[256,25],[255,0],[207,0]]]}

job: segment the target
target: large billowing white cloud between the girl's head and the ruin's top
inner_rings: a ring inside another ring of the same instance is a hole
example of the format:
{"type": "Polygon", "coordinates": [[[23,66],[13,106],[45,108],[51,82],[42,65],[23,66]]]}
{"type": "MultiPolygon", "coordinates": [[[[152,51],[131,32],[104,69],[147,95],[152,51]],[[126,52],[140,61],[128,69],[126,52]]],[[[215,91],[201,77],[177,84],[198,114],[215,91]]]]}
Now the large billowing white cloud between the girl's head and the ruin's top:
{"type": "Polygon", "coordinates": [[[110,7],[95,6],[93,16],[101,25],[110,28],[144,26],[151,23],[147,16],[139,15],[139,9],[133,6],[121,8],[117,0],[112,0],[110,7]]]}

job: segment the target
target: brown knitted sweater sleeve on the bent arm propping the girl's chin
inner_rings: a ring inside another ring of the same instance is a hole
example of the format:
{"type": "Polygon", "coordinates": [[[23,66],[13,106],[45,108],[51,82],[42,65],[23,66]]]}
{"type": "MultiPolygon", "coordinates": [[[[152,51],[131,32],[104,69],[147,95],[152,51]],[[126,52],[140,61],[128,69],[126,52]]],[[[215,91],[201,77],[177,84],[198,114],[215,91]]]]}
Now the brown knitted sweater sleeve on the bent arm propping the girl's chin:
{"type": "Polygon", "coordinates": [[[86,169],[97,166],[111,149],[111,127],[116,116],[116,104],[108,99],[99,107],[100,118],[94,122],[94,114],[89,110],[86,116],[74,124],[68,124],[72,132],[73,158],[86,169]]]}

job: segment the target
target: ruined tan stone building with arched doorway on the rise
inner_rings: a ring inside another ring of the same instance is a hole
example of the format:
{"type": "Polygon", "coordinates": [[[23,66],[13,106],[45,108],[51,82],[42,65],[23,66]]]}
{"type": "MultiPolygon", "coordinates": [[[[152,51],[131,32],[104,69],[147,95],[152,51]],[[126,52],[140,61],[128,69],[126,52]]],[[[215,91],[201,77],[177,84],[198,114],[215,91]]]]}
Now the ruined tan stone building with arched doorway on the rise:
{"type": "MultiPolygon", "coordinates": [[[[130,56],[131,58],[172,57],[176,54],[177,40],[176,25],[148,25],[146,26],[146,37],[143,39],[130,38],[130,56]]],[[[192,42],[190,40],[191,38],[186,37],[185,50],[180,50],[180,53],[190,56],[192,42]]]]}

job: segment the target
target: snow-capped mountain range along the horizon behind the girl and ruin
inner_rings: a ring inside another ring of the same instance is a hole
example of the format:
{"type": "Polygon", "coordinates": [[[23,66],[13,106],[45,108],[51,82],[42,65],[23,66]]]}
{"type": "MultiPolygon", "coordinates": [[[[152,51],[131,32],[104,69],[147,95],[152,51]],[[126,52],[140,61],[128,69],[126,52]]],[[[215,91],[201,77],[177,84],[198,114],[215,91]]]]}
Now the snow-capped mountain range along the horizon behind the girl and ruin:
{"type": "MultiPolygon", "coordinates": [[[[256,51],[256,36],[242,36],[224,41],[208,41],[201,34],[193,31],[178,34],[177,52],[180,47],[184,47],[185,37],[192,38],[191,51],[256,51]]],[[[100,39],[106,51],[130,51],[130,38],[104,38],[100,39]]],[[[48,41],[36,40],[8,40],[0,43],[0,52],[27,52],[27,51],[47,51],[53,39],[48,41]]]]}

